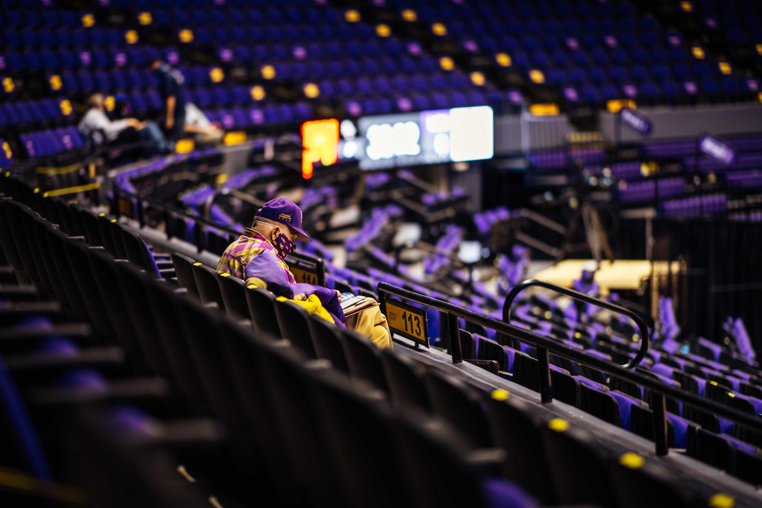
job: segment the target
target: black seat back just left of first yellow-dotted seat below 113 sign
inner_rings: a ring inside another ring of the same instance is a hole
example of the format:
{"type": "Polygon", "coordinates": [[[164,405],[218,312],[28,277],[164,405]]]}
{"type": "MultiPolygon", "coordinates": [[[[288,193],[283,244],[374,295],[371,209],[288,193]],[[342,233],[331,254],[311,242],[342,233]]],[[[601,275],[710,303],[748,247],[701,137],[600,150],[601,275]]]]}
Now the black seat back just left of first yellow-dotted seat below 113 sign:
{"type": "Polygon", "coordinates": [[[424,376],[431,411],[463,433],[472,448],[491,446],[487,419],[477,398],[464,382],[432,370],[424,376]]]}

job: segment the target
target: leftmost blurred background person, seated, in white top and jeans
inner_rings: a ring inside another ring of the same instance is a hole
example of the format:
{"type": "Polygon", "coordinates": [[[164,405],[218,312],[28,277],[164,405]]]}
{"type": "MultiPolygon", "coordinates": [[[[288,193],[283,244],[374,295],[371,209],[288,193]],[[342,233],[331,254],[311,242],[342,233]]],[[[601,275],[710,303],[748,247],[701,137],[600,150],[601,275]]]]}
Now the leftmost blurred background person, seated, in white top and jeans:
{"type": "Polygon", "coordinates": [[[136,118],[111,120],[106,114],[103,94],[92,94],[87,106],[88,110],[77,128],[95,145],[119,146],[145,142],[148,156],[171,151],[161,129],[154,122],[141,122],[136,118]]]}

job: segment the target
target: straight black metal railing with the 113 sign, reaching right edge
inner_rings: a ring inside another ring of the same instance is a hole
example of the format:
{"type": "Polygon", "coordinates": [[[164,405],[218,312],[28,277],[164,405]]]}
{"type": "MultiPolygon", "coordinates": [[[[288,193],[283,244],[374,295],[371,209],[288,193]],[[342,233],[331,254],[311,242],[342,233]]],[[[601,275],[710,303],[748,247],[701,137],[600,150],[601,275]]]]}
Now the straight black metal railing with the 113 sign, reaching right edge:
{"type": "MultiPolygon", "coordinates": [[[[447,331],[442,333],[449,334],[450,344],[452,350],[453,363],[463,362],[463,353],[460,349],[460,340],[458,337],[458,318],[463,318],[466,321],[471,321],[475,324],[481,324],[484,327],[491,328],[498,333],[505,334],[516,340],[520,340],[525,343],[530,343],[540,350],[546,350],[547,352],[555,353],[559,356],[574,360],[575,362],[591,366],[594,369],[598,369],[604,372],[608,372],[611,375],[616,375],[617,378],[624,379],[626,381],[636,383],[651,391],[651,407],[654,411],[654,441],[656,445],[657,455],[666,455],[668,452],[667,446],[667,410],[665,404],[665,397],[671,397],[680,401],[683,401],[684,405],[690,405],[699,408],[704,411],[711,411],[720,417],[725,417],[730,420],[734,420],[737,423],[742,423],[744,427],[748,427],[750,430],[762,433],[762,420],[757,419],[754,415],[745,414],[732,407],[719,404],[716,401],[712,401],[707,398],[700,397],[693,394],[690,391],[685,391],[681,388],[675,388],[671,385],[666,385],[660,382],[658,379],[652,378],[650,375],[646,375],[634,369],[626,369],[623,366],[616,365],[616,363],[609,362],[605,359],[600,359],[597,356],[590,356],[583,353],[581,350],[577,350],[573,347],[567,346],[558,340],[551,339],[549,337],[543,337],[542,335],[535,334],[534,332],[524,330],[523,328],[516,327],[512,324],[508,324],[504,321],[499,321],[495,318],[479,314],[477,312],[469,311],[467,308],[459,307],[448,302],[443,302],[431,298],[430,296],[421,295],[420,293],[408,291],[397,286],[392,286],[389,283],[379,283],[378,285],[379,301],[382,302],[382,310],[385,308],[383,305],[399,306],[404,304],[417,304],[424,307],[434,308],[439,312],[443,312],[447,315],[447,331]]],[[[588,297],[590,298],[590,297],[588,297]]],[[[597,302],[595,302],[597,304],[597,302]]],[[[417,309],[425,316],[425,311],[417,309]]],[[[418,314],[421,315],[421,314],[418,314]]],[[[401,324],[401,316],[398,321],[394,321],[389,324],[389,328],[393,334],[405,335],[404,325],[401,324]],[[403,326],[402,330],[398,327],[403,326]],[[402,332],[402,333],[401,333],[402,332]]],[[[407,316],[405,316],[406,320],[407,316]]],[[[389,316],[387,316],[387,322],[389,322],[389,316]]],[[[410,323],[408,322],[408,325],[410,323]]],[[[415,324],[415,319],[414,323],[415,324]]],[[[425,342],[428,342],[428,337],[425,337],[425,342]]],[[[421,343],[421,342],[418,342],[421,343]]],[[[644,353],[645,354],[645,353],[644,353]]],[[[546,383],[540,384],[540,399],[544,404],[552,402],[552,385],[550,382],[550,367],[549,363],[539,363],[539,375],[540,379],[546,379],[546,383]]]]}

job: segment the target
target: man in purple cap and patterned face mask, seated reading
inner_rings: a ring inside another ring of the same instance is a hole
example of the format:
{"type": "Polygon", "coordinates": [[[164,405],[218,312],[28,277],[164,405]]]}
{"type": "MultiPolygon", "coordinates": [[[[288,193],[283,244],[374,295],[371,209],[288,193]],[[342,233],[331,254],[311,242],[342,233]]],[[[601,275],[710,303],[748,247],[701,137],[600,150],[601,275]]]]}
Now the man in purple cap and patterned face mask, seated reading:
{"type": "Polygon", "coordinates": [[[226,248],[217,264],[217,273],[245,280],[247,286],[268,289],[278,296],[303,302],[308,312],[338,327],[351,327],[383,349],[392,347],[392,335],[384,316],[375,305],[344,318],[341,293],[322,286],[297,283],[284,259],[296,248],[296,241],[312,241],[302,230],[302,210],[290,200],[276,198],[258,209],[250,228],[226,248]],[[345,321],[347,323],[345,324],[345,321]]]}

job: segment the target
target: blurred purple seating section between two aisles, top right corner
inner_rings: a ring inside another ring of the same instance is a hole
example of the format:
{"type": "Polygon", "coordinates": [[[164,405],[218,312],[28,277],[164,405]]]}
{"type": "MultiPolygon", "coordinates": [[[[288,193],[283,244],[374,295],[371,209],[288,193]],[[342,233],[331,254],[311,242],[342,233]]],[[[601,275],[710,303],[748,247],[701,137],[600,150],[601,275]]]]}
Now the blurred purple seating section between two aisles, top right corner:
{"type": "MultiPolygon", "coordinates": [[[[367,2],[371,3],[371,2],[367,2]]],[[[373,2],[375,5],[375,2],[373,2]]],[[[386,4],[386,2],[384,2],[386,4]]],[[[389,2],[404,21],[431,27],[468,54],[519,69],[570,107],[630,98],[670,104],[754,100],[759,80],[737,73],[677,31],[662,30],[629,2],[389,2]]]]}

